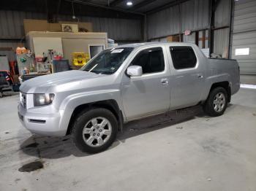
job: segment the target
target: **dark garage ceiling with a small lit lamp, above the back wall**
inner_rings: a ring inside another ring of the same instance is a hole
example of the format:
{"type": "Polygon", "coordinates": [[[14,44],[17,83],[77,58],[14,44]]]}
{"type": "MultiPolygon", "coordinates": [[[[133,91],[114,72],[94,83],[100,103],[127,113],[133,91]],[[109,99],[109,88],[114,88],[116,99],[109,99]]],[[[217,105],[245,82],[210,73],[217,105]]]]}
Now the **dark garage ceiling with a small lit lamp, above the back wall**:
{"type": "Polygon", "coordinates": [[[24,12],[48,12],[50,15],[71,14],[94,17],[125,17],[124,13],[143,15],[186,0],[3,0],[0,9],[24,12]],[[127,5],[131,1],[132,5],[127,5]],[[73,5],[73,6],[72,6],[73,5]],[[123,13],[123,15],[122,15],[123,13]]]}

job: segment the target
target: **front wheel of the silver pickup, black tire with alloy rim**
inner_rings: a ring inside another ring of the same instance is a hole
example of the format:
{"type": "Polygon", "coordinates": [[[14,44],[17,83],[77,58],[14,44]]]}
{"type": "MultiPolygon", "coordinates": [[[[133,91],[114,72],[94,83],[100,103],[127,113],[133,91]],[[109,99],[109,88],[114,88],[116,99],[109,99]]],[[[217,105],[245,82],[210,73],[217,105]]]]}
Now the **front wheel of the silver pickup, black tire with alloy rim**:
{"type": "Polygon", "coordinates": [[[81,152],[97,153],[113,144],[117,132],[118,122],[112,112],[92,108],[81,112],[75,119],[71,139],[81,152]]]}

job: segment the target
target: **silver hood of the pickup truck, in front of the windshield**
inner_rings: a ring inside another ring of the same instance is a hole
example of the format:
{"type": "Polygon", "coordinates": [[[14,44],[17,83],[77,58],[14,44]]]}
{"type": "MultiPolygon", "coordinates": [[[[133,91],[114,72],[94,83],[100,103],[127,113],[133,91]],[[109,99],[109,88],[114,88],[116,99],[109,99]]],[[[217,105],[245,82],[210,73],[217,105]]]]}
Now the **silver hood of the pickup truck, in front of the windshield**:
{"type": "Polygon", "coordinates": [[[20,85],[20,91],[23,93],[45,93],[49,87],[62,85],[81,79],[91,79],[104,75],[94,74],[88,71],[72,70],[62,71],[56,74],[48,74],[41,77],[29,79],[20,85]]]}

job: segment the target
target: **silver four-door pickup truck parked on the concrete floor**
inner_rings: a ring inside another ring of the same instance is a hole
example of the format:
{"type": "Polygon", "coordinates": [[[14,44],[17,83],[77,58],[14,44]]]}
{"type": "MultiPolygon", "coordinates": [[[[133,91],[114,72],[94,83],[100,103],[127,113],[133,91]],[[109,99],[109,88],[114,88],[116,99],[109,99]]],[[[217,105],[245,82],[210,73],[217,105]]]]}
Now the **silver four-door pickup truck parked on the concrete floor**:
{"type": "Polygon", "coordinates": [[[237,61],[206,58],[195,44],[125,44],[80,70],[23,82],[18,116],[32,133],[71,133],[78,149],[95,153],[131,120],[197,104],[222,115],[239,87],[237,61]]]}

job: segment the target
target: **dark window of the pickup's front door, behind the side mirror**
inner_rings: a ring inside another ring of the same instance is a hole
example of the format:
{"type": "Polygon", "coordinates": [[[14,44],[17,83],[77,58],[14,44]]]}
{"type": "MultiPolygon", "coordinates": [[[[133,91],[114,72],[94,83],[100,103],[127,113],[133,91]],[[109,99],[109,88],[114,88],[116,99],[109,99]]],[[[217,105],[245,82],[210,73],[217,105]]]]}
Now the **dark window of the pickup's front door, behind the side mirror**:
{"type": "Polygon", "coordinates": [[[133,59],[131,65],[141,66],[143,74],[165,70],[165,59],[161,47],[142,50],[133,59]]]}

